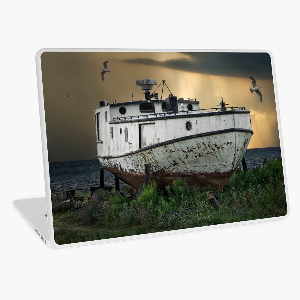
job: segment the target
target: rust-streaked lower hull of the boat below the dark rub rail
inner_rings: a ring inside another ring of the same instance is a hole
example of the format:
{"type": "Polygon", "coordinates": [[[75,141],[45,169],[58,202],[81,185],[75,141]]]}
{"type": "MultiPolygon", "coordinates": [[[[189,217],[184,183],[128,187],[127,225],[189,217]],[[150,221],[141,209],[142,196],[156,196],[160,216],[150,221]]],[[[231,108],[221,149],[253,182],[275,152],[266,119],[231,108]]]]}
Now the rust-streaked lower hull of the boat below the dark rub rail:
{"type": "Polygon", "coordinates": [[[150,164],[150,179],[158,187],[182,178],[190,187],[222,189],[244,157],[252,134],[250,129],[230,128],[157,143],[125,155],[98,155],[98,159],[134,188],[145,182],[145,165],[150,164]]]}

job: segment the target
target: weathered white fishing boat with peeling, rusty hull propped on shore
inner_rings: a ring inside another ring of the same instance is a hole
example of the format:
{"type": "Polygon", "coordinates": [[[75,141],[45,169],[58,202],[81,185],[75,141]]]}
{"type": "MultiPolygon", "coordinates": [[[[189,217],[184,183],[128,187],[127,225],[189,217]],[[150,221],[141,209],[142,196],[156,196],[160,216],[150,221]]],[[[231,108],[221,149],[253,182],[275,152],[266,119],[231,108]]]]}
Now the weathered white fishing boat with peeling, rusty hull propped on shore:
{"type": "MultiPolygon", "coordinates": [[[[163,91],[165,80],[161,84],[163,91]]],[[[171,92],[162,99],[163,92],[161,97],[150,92],[155,79],[138,79],[136,85],[144,100],[103,100],[95,109],[101,165],[134,188],[145,182],[145,165],[150,165],[158,187],[182,178],[189,186],[222,189],[253,135],[250,111],[226,107],[223,98],[207,109],[196,98],[178,99],[171,92]]]]}

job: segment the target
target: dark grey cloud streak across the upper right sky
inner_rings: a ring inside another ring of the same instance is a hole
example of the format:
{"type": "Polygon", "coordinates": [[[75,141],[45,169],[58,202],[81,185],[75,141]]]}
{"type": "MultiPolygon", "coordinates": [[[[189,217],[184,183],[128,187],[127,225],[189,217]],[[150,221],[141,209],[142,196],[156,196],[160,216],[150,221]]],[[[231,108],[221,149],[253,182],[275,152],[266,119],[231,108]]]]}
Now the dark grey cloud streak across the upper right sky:
{"type": "Polygon", "coordinates": [[[193,73],[273,79],[271,58],[265,52],[182,52],[182,54],[186,57],[165,61],[140,57],[123,61],[193,73]]]}

